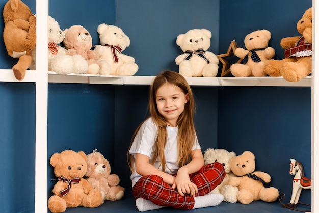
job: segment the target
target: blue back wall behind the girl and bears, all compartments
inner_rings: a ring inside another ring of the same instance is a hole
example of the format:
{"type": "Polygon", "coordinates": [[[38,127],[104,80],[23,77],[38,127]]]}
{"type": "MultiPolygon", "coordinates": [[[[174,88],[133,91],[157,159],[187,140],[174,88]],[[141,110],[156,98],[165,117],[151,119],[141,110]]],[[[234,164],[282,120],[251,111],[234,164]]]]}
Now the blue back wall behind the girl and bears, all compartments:
{"type": "MultiPolygon", "coordinates": [[[[24,2],[35,13],[35,1],[24,2]]],[[[174,60],[181,50],[176,37],[193,28],[212,32],[210,51],[216,54],[224,53],[233,39],[244,47],[246,34],[268,29],[272,32],[270,46],[276,50],[275,57],[281,59],[281,38],[299,35],[296,23],[311,6],[311,0],[301,5],[297,0],[288,2],[270,0],[255,5],[255,0],[96,0],[87,4],[55,0],[49,1],[49,15],[62,29],[75,24],[85,26],[94,44],[99,43],[98,24],[120,26],[131,40],[124,54],[135,57],[140,67],[136,75],[156,75],[164,69],[178,70],[174,60]],[[251,8],[249,12],[247,8],[251,8]]],[[[0,6],[5,3],[0,0],[0,6]]],[[[2,31],[3,21],[0,25],[2,31]]],[[[0,43],[0,68],[10,69],[16,61],[7,56],[3,41],[0,43]]],[[[272,184],[287,197],[292,179],[288,174],[290,157],[300,160],[306,176],[311,176],[310,88],[192,88],[197,101],[195,125],[203,151],[253,151],[257,169],[271,174],[272,184]],[[300,143],[303,148],[295,151],[300,143]]],[[[148,115],[148,86],[49,84],[48,89],[48,157],[65,149],[90,153],[97,148],[109,159],[121,185],[129,187],[126,151],[132,132],[148,115]]],[[[0,202],[0,212],[32,212],[35,87],[33,83],[0,83],[0,96],[0,156],[7,162],[0,166],[0,182],[5,183],[0,188],[0,200],[4,201],[0,202]],[[18,192],[11,190],[13,186],[21,189],[19,196],[26,196],[19,202],[18,192]]],[[[52,177],[48,162],[49,196],[52,177]]],[[[310,191],[302,193],[302,201],[310,203],[310,191]]]]}

